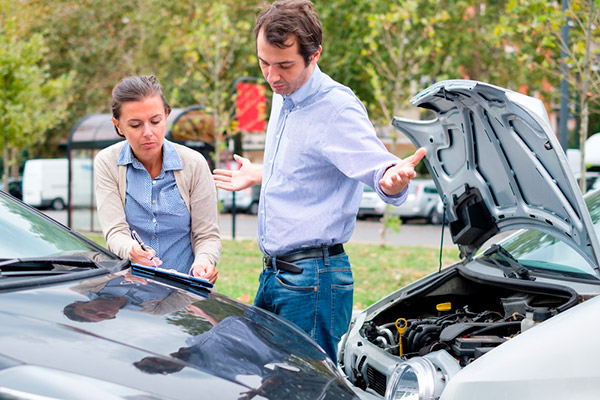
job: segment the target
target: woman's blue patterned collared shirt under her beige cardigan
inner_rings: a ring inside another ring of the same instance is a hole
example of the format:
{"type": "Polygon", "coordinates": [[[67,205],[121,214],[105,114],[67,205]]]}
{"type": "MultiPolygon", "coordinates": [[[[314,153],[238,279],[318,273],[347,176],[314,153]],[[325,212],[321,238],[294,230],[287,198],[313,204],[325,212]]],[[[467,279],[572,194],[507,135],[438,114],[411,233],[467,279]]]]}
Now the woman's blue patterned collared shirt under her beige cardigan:
{"type": "Polygon", "coordinates": [[[127,165],[125,216],[144,243],[156,251],[161,267],[189,273],[194,262],[190,213],[179,193],[174,170],[183,168],[173,145],[163,144],[163,167],[152,179],[125,143],[118,165],[127,165]]]}

